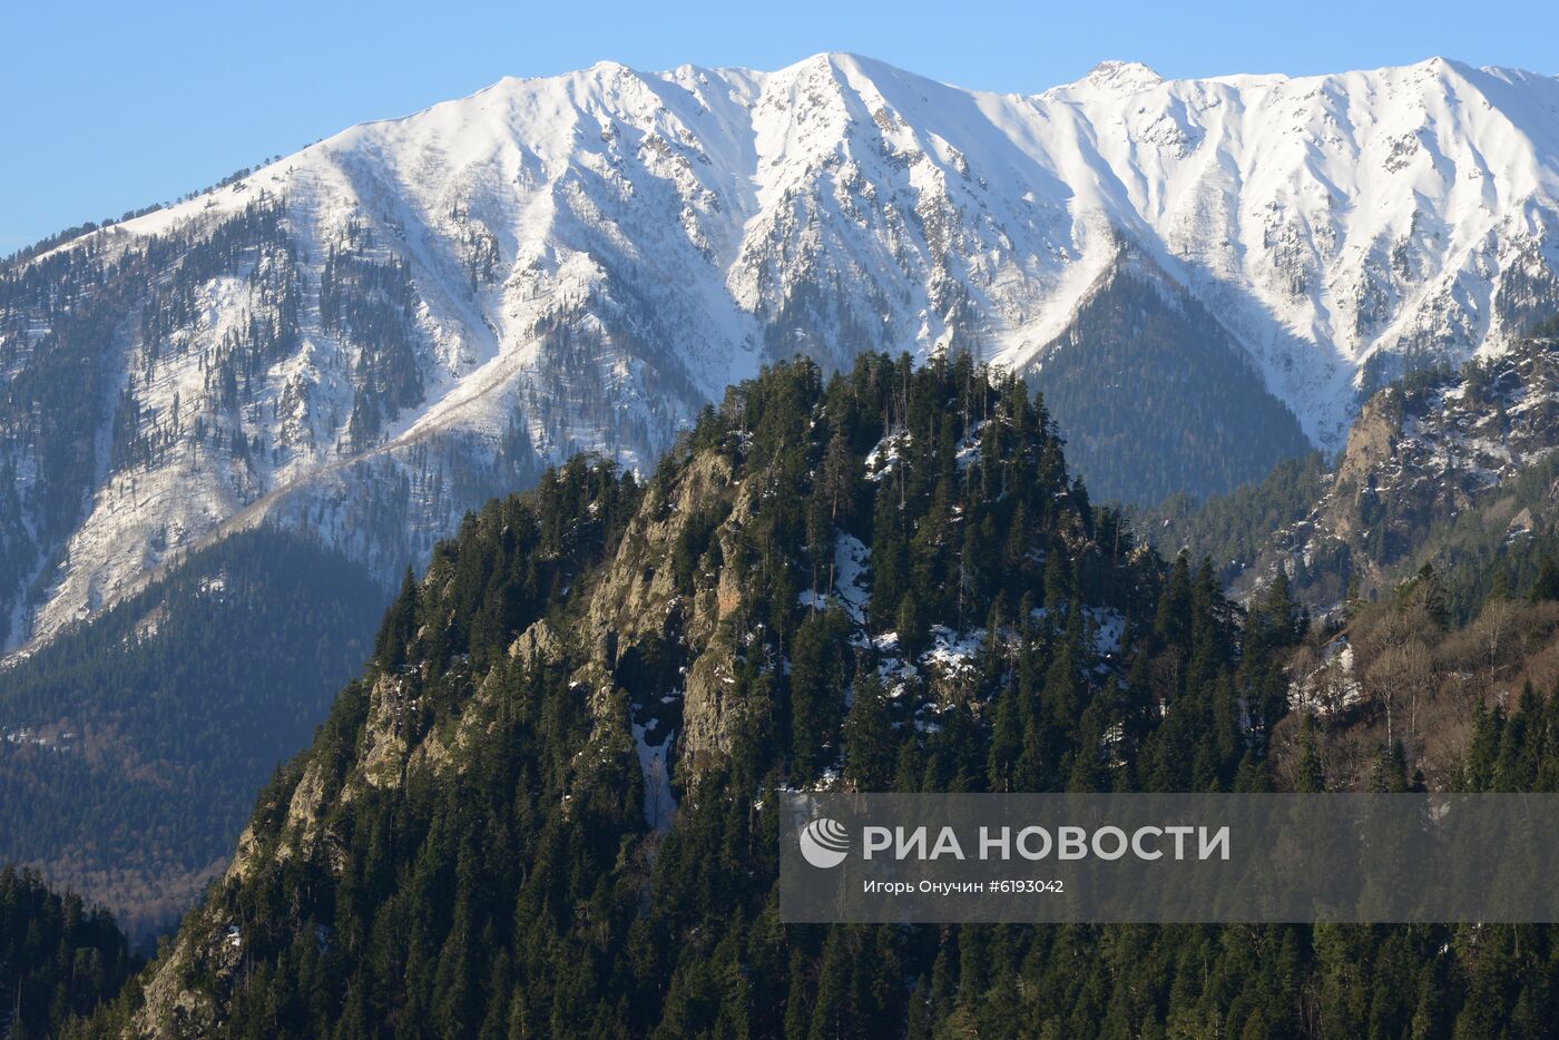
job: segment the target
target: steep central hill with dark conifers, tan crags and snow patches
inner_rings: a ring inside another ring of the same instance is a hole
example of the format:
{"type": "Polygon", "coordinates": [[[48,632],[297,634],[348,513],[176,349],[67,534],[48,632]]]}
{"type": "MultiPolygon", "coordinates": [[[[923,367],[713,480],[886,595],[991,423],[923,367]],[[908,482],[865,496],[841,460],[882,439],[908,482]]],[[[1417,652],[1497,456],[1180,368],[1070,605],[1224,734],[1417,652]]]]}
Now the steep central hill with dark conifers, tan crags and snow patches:
{"type": "Polygon", "coordinates": [[[644,485],[468,518],[84,1031],[1540,1035],[1542,929],[780,925],[781,786],[1267,789],[1302,627],[1133,544],[967,356],[781,365],[644,485]]]}

